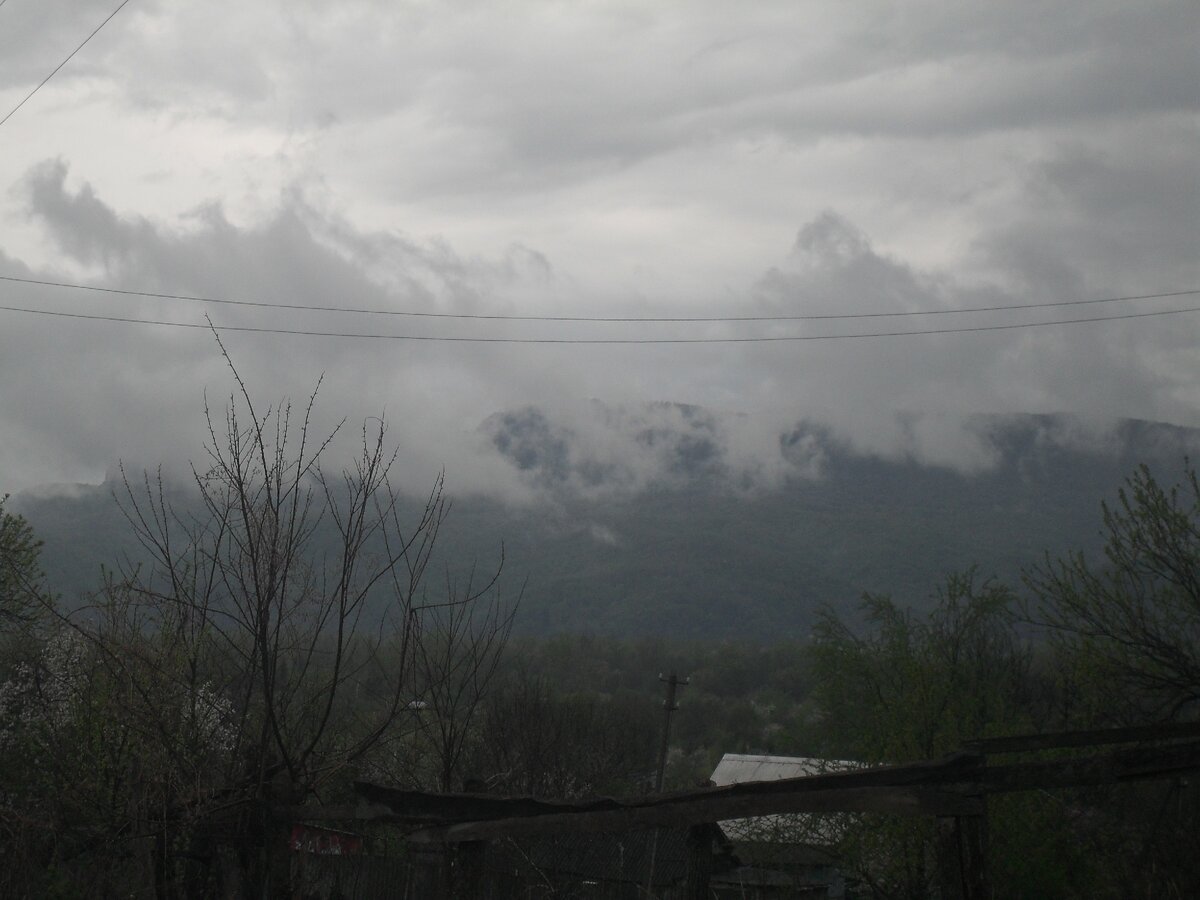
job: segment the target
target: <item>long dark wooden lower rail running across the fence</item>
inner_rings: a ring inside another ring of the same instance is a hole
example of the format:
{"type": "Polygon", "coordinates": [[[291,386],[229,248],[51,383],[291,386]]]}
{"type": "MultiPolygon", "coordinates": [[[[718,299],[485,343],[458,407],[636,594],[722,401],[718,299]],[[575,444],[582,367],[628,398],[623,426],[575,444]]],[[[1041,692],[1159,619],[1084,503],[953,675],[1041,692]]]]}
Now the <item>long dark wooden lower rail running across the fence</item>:
{"type": "Polygon", "coordinates": [[[1087,787],[1200,770],[1200,742],[1004,766],[977,755],[824,775],[748,781],[637,800],[539,800],[438,794],[355,784],[356,808],[281,810],[300,821],[391,822],[416,841],[485,840],[570,832],[620,832],[780,814],[883,812],[978,816],[995,793],[1087,787]]]}

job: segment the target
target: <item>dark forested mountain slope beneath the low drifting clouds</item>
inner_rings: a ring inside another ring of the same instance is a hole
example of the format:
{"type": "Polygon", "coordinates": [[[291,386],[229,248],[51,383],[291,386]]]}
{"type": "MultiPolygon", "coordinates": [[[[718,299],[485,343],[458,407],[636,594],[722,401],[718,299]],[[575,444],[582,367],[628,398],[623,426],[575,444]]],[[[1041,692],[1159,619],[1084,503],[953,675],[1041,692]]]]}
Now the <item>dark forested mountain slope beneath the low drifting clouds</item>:
{"type": "MultiPolygon", "coordinates": [[[[782,449],[803,440],[811,454],[815,444],[820,470],[770,488],[738,490],[719,468],[692,466],[637,491],[545,491],[522,504],[454,497],[439,545],[452,557],[438,565],[462,571],[493,559],[503,541],[506,572],[528,578],[523,634],[799,637],[822,604],[851,611],[864,592],[920,606],[947,571],[978,565],[1015,583],[1046,552],[1096,553],[1100,500],[1140,462],[1175,478],[1200,446],[1200,432],[1153,422],[1121,422],[1094,448],[1048,437],[1069,431],[1055,416],[980,422],[995,463],[973,473],[859,455],[802,424],[781,436],[782,449]]],[[[570,451],[545,433],[522,439],[520,454],[514,442],[504,448],[534,479],[570,451]]],[[[658,437],[695,460],[689,439],[658,437]]],[[[96,589],[101,565],[138,559],[113,499],[122,490],[110,479],[13,498],[46,541],[50,586],[68,605],[96,589]]],[[[186,487],[178,494],[187,502],[186,487]]]]}

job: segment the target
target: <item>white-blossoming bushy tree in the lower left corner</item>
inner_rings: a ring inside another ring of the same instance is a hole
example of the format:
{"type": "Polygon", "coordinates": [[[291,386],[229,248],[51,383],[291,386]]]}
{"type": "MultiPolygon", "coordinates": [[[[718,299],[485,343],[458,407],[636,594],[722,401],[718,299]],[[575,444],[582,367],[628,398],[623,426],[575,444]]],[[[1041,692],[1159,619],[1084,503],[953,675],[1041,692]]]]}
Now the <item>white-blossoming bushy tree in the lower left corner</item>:
{"type": "Polygon", "coordinates": [[[85,881],[88,895],[119,895],[154,883],[152,854],[128,832],[161,805],[151,786],[164,761],[146,752],[152,744],[112,676],[95,643],[60,628],[0,683],[4,896],[85,895],[85,881]]]}

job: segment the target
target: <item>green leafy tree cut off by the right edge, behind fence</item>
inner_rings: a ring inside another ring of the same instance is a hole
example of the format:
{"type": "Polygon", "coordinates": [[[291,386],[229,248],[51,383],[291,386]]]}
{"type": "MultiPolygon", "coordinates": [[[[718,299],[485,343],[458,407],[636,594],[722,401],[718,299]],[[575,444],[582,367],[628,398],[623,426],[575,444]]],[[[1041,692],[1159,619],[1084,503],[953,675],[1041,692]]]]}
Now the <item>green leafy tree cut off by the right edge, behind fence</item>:
{"type": "MultiPolygon", "coordinates": [[[[1049,636],[1066,727],[1200,718],[1200,481],[1141,466],[1102,505],[1104,557],[1026,574],[1025,616],[1049,636]]],[[[1081,794],[1080,836],[1109,860],[1111,895],[1200,895],[1200,787],[1190,779],[1081,794]]]]}

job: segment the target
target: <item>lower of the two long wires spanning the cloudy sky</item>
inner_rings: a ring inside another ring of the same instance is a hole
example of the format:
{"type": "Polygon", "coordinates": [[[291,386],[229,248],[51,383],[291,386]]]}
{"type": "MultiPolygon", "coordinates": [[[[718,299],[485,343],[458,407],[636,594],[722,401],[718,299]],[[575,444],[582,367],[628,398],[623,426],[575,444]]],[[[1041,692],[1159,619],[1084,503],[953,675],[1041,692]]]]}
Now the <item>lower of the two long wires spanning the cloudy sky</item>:
{"type": "Polygon", "coordinates": [[[358,331],[307,331],[301,329],[254,328],[251,325],[209,325],[196,322],[164,322],[161,319],[134,319],[121,316],[97,316],[82,312],[60,312],[55,310],[30,310],[22,306],[0,306],[4,312],[24,312],[32,316],[54,316],[68,319],[89,319],[92,322],[118,322],[134,325],[162,325],[168,328],[193,328],[217,331],[242,331],[262,335],[296,335],[304,337],[346,337],[372,341],[424,341],[432,343],[509,343],[509,344],[698,344],[698,343],[790,343],[800,341],[852,341],[871,337],[914,337],[919,335],[953,335],[982,331],[1012,331],[1027,328],[1048,328],[1054,325],[1080,325],[1093,322],[1121,322],[1126,319],[1145,319],[1154,316],[1180,316],[1188,312],[1200,312],[1200,306],[1183,310],[1154,310],[1151,312],[1130,312],[1121,316],[1092,316],[1075,319],[1054,319],[1050,322],[1018,322],[1006,325],[970,325],[964,328],[920,329],[913,331],[868,331],[863,334],[836,335],[786,335],[760,337],[454,337],[445,335],[380,335],[358,331]]]}

